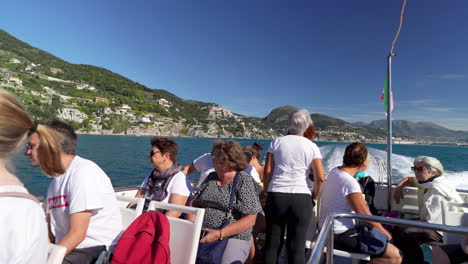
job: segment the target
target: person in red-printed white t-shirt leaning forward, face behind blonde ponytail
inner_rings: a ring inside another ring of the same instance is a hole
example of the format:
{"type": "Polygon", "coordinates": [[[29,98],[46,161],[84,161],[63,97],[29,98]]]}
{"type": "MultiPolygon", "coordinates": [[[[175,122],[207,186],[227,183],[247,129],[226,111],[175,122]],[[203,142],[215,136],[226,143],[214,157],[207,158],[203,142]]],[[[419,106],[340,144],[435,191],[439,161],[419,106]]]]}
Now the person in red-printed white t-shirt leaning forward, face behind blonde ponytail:
{"type": "MultiPolygon", "coordinates": [[[[112,183],[94,162],[75,154],[77,136],[61,121],[45,124],[62,136],[59,153],[65,173],[53,177],[47,191],[49,239],[67,248],[63,263],[91,263],[117,243],[122,231],[112,183]]],[[[44,139],[42,139],[44,140],[44,139]]],[[[41,138],[32,133],[25,155],[39,166],[41,138]]]]}

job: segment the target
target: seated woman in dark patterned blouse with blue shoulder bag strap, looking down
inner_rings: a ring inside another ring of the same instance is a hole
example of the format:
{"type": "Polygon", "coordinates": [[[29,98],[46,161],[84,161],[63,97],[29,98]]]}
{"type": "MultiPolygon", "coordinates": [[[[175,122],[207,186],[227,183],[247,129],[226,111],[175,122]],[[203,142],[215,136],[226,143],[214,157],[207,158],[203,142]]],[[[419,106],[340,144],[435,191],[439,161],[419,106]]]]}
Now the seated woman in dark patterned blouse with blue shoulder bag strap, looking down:
{"type": "Polygon", "coordinates": [[[203,181],[192,201],[192,206],[206,210],[203,220],[206,235],[201,238],[200,243],[228,239],[221,263],[244,263],[251,246],[252,226],[261,210],[254,182],[250,175],[243,172],[248,164],[239,143],[216,141],[211,156],[215,171],[203,181]],[[227,212],[235,177],[238,178],[232,219],[229,219],[227,212]],[[218,229],[226,221],[229,224],[218,229]]]}

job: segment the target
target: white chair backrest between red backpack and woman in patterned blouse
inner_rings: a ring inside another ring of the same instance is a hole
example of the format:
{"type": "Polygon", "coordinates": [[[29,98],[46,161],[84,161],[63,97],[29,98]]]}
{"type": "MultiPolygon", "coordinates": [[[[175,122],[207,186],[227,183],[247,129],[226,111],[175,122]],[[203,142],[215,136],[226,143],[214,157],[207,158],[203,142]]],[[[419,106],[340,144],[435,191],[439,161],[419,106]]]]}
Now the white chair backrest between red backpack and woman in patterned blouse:
{"type": "Polygon", "coordinates": [[[195,263],[205,209],[151,201],[148,210],[165,209],[194,214],[195,221],[168,217],[171,228],[169,247],[172,264],[195,263]]]}

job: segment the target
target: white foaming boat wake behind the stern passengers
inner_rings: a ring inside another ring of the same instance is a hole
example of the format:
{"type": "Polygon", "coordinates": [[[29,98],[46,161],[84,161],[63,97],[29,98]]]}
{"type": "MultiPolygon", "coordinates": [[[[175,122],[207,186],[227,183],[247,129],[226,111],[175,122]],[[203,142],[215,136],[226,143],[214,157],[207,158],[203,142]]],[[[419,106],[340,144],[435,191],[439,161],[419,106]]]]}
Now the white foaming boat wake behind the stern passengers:
{"type": "MultiPolygon", "coordinates": [[[[320,147],[325,175],[328,175],[334,167],[342,165],[345,148],[346,145],[343,144],[332,144],[320,147]]],[[[368,147],[368,151],[371,155],[371,163],[366,170],[366,175],[371,176],[375,181],[387,182],[386,171],[382,170],[382,167],[384,169],[387,168],[387,153],[383,150],[370,147],[368,147]]],[[[415,157],[392,154],[393,183],[398,183],[404,177],[414,176],[411,171],[414,158],[415,157]]],[[[468,171],[445,171],[445,176],[454,188],[468,190],[468,181],[466,181],[466,178],[468,178],[468,171]]]]}

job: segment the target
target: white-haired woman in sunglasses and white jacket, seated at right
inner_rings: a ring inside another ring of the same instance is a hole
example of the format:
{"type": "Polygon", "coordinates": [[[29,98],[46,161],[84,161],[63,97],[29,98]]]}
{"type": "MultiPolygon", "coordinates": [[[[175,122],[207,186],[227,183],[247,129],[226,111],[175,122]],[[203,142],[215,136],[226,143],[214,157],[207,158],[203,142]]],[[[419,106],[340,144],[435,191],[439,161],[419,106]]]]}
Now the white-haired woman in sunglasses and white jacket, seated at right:
{"type": "MultiPolygon", "coordinates": [[[[415,177],[406,177],[398,184],[393,197],[397,203],[404,198],[403,188],[407,186],[418,188],[419,219],[424,222],[442,224],[441,202],[462,203],[460,195],[451,187],[444,175],[444,167],[436,158],[420,156],[414,159],[415,177]]],[[[442,242],[442,234],[438,231],[415,227],[397,227],[393,230],[395,245],[403,251],[403,263],[424,263],[422,243],[431,241],[442,242]]]]}

